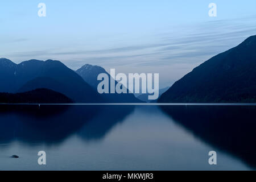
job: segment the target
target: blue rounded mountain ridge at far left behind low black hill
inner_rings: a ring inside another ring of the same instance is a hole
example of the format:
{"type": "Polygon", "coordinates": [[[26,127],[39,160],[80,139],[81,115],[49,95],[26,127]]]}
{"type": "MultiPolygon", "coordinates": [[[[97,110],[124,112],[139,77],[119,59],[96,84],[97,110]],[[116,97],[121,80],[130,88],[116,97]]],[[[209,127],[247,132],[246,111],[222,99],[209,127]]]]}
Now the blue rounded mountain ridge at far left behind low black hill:
{"type": "Polygon", "coordinates": [[[0,60],[0,92],[27,92],[47,88],[65,94],[75,102],[102,102],[98,94],[75,71],[60,61],[29,60],[15,64],[7,59],[0,60]],[[8,69],[6,69],[8,68],[8,69]]]}

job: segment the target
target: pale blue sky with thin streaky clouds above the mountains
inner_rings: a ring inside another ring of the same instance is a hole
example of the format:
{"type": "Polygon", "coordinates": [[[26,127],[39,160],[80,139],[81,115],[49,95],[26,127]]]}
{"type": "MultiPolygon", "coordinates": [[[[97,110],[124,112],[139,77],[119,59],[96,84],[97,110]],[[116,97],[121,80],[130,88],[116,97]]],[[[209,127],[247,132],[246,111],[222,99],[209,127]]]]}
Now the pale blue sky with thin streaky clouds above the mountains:
{"type": "Polygon", "coordinates": [[[1,1],[0,57],[159,73],[164,88],[255,35],[255,8],[255,0],[1,1]],[[38,16],[39,3],[46,17],[38,16]],[[208,15],[209,3],[216,3],[216,17],[208,15]]]}

